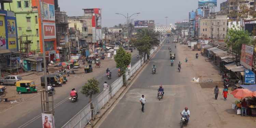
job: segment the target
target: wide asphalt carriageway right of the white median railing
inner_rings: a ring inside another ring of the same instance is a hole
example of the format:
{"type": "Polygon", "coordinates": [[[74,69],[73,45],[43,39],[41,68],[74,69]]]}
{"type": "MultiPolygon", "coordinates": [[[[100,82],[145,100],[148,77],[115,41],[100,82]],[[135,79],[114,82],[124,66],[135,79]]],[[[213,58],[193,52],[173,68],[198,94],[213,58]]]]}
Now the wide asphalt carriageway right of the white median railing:
{"type": "MultiPolygon", "coordinates": [[[[167,40],[172,41],[172,38],[167,40]]],[[[185,106],[190,110],[190,122],[187,127],[196,127],[196,117],[193,113],[200,112],[196,109],[195,90],[191,87],[190,69],[186,68],[188,63],[184,62],[179,53],[183,49],[174,47],[175,43],[165,43],[142,70],[136,80],[132,83],[126,94],[114,106],[99,128],[176,128],[180,127],[180,112],[185,106]],[[174,66],[170,66],[170,52],[176,53],[174,66]],[[182,62],[181,72],[178,72],[177,63],[182,62]],[[183,64],[184,63],[184,64],[183,64]],[[156,74],[152,74],[152,66],[156,65],[156,74]],[[162,84],[165,90],[164,98],[157,99],[157,89],[162,84]],[[145,95],[145,112],[141,111],[139,99],[145,95]],[[192,122],[192,123],[191,123],[192,122]],[[193,123],[194,122],[194,123],[193,123]]],[[[197,120],[199,121],[199,120],[197,120]]]]}

